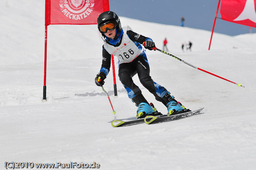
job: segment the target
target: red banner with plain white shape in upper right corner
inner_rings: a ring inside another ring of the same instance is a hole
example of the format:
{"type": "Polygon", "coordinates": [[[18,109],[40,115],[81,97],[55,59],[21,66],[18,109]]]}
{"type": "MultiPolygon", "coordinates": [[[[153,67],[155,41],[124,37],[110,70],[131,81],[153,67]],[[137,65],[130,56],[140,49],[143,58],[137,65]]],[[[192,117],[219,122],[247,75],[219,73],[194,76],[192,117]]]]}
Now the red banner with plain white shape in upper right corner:
{"type": "Polygon", "coordinates": [[[221,0],[221,19],[256,27],[256,0],[221,0]]]}

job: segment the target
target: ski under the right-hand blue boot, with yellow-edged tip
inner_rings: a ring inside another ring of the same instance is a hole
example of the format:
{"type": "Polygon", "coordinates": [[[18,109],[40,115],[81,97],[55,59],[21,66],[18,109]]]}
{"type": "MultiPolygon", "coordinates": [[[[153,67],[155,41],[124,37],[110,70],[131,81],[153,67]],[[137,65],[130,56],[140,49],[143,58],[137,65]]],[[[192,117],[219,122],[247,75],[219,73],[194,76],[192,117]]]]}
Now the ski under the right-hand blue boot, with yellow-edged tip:
{"type": "Polygon", "coordinates": [[[197,110],[190,111],[190,112],[184,112],[184,113],[180,113],[180,114],[176,114],[176,115],[170,115],[170,116],[161,115],[161,116],[157,117],[157,116],[148,115],[144,118],[144,121],[146,124],[157,124],[157,123],[166,122],[166,121],[174,121],[174,120],[181,119],[181,118],[187,118],[192,115],[202,114],[203,113],[203,112],[201,112],[202,109],[204,109],[204,108],[197,109],[197,110]]]}

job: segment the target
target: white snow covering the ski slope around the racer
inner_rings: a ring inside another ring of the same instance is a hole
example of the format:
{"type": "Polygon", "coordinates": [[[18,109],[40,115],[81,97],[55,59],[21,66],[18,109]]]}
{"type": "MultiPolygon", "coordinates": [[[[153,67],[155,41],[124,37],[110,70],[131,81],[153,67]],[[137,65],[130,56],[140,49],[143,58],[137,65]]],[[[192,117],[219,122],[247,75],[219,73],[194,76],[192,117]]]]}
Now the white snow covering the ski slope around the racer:
{"type": "MultiPolygon", "coordinates": [[[[134,103],[113,75],[95,85],[102,61],[96,25],[50,25],[47,102],[44,81],[44,0],[0,1],[0,169],[5,161],[93,162],[102,170],[254,170],[256,167],[256,34],[228,36],[120,17],[162,49],[245,88],[149,51],[151,77],[189,109],[204,114],[162,124],[113,128],[135,119],[134,103]],[[181,43],[192,41],[192,52],[181,43]]],[[[117,60],[116,60],[117,61],[117,60]]],[[[166,108],[139,82],[149,102],[166,108]]]]}

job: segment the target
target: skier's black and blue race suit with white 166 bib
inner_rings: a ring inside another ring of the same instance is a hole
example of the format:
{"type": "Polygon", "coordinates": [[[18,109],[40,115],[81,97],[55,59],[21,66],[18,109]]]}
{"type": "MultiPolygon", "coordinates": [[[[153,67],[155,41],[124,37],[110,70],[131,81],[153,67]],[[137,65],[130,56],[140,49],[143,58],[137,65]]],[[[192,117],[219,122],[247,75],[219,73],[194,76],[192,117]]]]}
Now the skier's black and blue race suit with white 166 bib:
{"type": "Polygon", "coordinates": [[[157,101],[161,101],[168,92],[151,79],[148,59],[145,49],[141,46],[151,38],[139,35],[129,26],[123,27],[114,40],[106,39],[102,49],[102,67],[100,72],[107,76],[111,66],[111,54],[119,59],[119,79],[125,87],[128,97],[133,99],[141,94],[140,88],[134,84],[132,77],[138,74],[141,84],[151,92],[157,101]]]}

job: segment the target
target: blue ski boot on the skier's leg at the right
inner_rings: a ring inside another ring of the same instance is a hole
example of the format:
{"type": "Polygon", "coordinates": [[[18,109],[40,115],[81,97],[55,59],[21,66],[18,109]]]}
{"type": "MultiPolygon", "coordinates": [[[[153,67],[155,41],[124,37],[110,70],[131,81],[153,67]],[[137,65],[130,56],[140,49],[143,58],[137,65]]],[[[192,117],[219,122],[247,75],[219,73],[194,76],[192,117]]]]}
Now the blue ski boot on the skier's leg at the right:
{"type": "Polygon", "coordinates": [[[167,92],[161,102],[167,107],[168,113],[167,115],[175,115],[179,112],[182,112],[186,109],[180,102],[177,102],[173,96],[170,95],[170,92],[167,92]]]}

